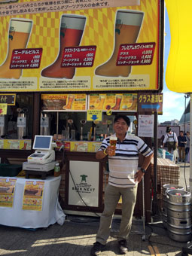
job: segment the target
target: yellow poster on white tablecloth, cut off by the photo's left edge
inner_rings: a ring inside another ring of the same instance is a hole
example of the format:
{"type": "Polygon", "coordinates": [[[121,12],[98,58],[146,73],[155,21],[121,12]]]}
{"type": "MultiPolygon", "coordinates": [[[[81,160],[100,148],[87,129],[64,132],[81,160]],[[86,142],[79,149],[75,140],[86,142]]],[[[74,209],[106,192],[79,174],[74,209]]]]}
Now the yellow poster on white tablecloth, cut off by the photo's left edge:
{"type": "Polygon", "coordinates": [[[16,178],[0,178],[0,207],[13,207],[16,178]]]}

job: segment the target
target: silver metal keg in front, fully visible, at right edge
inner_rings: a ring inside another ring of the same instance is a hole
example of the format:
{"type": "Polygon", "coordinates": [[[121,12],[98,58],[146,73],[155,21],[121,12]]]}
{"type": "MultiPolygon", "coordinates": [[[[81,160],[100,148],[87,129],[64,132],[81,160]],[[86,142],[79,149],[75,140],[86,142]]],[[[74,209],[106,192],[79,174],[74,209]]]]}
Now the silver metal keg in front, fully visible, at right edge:
{"type": "Polygon", "coordinates": [[[191,239],[190,192],[167,190],[167,231],[169,238],[178,242],[191,239]]]}

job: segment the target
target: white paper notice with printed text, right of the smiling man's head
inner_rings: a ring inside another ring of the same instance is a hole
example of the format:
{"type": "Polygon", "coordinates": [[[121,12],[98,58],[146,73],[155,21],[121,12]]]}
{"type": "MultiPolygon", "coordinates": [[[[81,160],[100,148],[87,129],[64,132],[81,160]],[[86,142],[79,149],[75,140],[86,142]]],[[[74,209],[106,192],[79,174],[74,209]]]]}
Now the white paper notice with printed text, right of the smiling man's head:
{"type": "Polygon", "coordinates": [[[154,114],[139,114],[138,136],[154,137],[154,114]]]}

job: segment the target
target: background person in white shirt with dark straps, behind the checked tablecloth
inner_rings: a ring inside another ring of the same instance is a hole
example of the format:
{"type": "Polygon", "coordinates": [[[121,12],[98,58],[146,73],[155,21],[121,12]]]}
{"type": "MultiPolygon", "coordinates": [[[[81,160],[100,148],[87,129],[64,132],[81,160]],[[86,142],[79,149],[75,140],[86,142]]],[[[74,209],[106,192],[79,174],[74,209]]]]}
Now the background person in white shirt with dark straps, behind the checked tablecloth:
{"type": "Polygon", "coordinates": [[[172,151],[175,151],[176,148],[178,148],[178,138],[176,133],[172,132],[172,129],[170,126],[166,127],[166,136],[163,139],[163,146],[165,147],[165,144],[167,145],[167,151],[172,154],[172,151]]]}

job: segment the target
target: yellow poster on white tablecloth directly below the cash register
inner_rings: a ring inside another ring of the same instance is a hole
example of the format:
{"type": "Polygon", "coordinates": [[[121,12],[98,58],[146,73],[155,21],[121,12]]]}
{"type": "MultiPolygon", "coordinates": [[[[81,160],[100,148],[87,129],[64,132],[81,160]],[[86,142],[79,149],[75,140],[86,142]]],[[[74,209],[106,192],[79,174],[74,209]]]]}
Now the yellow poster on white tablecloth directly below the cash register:
{"type": "Polygon", "coordinates": [[[26,181],[23,194],[23,210],[41,211],[44,181],[26,181]]]}

